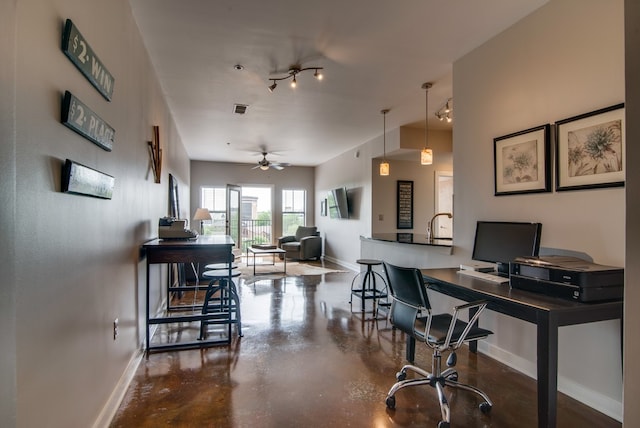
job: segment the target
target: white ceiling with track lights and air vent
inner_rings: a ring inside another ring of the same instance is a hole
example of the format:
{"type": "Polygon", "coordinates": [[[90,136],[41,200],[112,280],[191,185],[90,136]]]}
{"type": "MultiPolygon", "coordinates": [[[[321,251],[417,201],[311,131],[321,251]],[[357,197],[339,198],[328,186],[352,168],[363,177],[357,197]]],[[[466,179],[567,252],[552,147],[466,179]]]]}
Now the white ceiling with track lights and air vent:
{"type": "Polygon", "coordinates": [[[190,159],[254,163],[266,148],[298,166],[381,135],[384,108],[388,130],[424,127],[425,82],[429,127],[443,126],[453,62],[546,2],[130,0],[190,159]],[[270,93],[296,64],[324,79],[270,93]]]}

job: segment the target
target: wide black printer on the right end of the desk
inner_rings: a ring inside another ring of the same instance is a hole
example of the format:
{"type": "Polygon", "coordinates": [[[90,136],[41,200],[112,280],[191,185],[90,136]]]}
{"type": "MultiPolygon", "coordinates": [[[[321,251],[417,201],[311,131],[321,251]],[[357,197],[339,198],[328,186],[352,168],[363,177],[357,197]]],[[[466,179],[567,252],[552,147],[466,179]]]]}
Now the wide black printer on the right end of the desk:
{"type": "Polygon", "coordinates": [[[624,269],[570,256],[517,257],[509,264],[511,288],[579,302],[621,300],[624,269]]]}

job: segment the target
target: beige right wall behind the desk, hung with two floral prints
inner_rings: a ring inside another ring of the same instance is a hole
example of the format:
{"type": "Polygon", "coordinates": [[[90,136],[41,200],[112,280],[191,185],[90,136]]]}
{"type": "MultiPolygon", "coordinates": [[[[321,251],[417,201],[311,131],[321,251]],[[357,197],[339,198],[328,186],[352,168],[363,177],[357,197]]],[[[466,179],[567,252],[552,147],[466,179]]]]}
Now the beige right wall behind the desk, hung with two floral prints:
{"type": "MultiPolygon", "coordinates": [[[[481,219],[543,223],[542,246],[625,264],[622,188],[493,196],[493,138],[623,102],[622,0],[552,0],[453,67],[456,246],[481,219]]],[[[629,141],[629,140],[627,140],[629,141]]],[[[535,373],[532,325],[489,313],[495,356],[535,373]]],[[[559,388],[621,418],[620,323],[563,327],[559,388]]]]}

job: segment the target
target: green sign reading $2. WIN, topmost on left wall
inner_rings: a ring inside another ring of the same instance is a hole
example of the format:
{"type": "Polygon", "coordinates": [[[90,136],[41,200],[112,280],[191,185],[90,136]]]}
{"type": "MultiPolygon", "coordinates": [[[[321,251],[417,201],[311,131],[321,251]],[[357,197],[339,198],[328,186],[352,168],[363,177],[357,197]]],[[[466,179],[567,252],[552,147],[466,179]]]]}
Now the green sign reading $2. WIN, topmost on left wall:
{"type": "Polygon", "coordinates": [[[113,85],[115,84],[113,76],[70,19],[67,19],[64,26],[62,51],[98,92],[108,101],[111,101],[113,85]]]}

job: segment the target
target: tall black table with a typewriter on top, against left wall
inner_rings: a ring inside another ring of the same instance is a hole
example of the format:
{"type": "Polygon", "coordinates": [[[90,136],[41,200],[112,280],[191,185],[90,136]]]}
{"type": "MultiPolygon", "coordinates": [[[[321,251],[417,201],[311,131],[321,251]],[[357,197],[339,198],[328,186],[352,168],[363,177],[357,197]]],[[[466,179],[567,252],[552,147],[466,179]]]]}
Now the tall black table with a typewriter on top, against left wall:
{"type": "MultiPolygon", "coordinates": [[[[229,281],[231,281],[231,265],[233,261],[233,239],[230,236],[199,236],[195,240],[160,240],[154,239],[142,245],[147,257],[147,297],[146,297],[146,351],[203,348],[220,343],[219,340],[198,340],[182,343],[165,343],[151,345],[150,326],[153,324],[169,324],[180,322],[194,322],[216,319],[214,315],[192,314],[170,316],[168,312],[175,309],[170,306],[169,299],[174,291],[195,291],[196,287],[173,287],[171,281],[167,283],[166,316],[151,317],[149,302],[149,269],[152,264],[160,263],[226,263],[229,266],[229,281]]],[[[183,310],[185,308],[182,308],[183,310]]],[[[196,309],[189,307],[188,309],[196,309]]],[[[231,339],[230,337],[228,338],[231,339]]]]}

